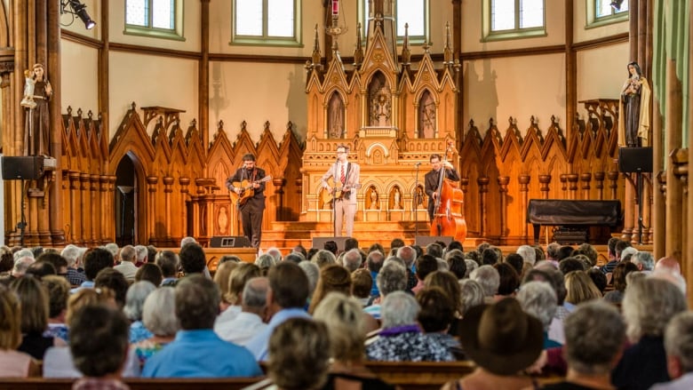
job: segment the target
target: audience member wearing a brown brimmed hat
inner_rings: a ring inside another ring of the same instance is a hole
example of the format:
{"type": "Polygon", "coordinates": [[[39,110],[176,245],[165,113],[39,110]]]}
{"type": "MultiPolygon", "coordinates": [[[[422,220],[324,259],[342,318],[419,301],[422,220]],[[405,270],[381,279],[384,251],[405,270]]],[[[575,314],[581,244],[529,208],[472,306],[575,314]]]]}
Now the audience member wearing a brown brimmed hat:
{"type": "Polygon", "coordinates": [[[539,357],[542,324],[522,311],[514,298],[474,306],[462,319],[459,338],[466,355],[478,368],[465,378],[447,383],[445,390],[538,387],[522,370],[539,357]]]}

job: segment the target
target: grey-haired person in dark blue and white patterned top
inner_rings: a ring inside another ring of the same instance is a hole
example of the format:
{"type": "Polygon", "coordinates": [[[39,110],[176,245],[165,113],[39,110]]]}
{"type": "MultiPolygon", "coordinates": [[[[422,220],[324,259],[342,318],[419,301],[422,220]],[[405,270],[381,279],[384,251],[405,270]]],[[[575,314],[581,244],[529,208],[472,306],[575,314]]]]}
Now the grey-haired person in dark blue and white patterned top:
{"type": "Polygon", "coordinates": [[[367,341],[368,360],[386,362],[451,362],[450,350],[421,332],[417,300],[404,291],[386,295],[380,307],[382,330],[367,341]]]}

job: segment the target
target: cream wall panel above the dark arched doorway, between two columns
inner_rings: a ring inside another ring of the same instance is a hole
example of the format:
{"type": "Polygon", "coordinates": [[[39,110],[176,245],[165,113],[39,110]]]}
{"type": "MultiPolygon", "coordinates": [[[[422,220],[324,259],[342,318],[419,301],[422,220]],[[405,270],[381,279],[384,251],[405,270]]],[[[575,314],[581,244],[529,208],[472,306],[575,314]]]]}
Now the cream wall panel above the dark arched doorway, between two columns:
{"type": "MultiPolygon", "coordinates": [[[[180,114],[180,127],[184,131],[198,117],[196,60],[111,52],[109,61],[108,126],[111,137],[132,101],[138,109],[160,106],[186,110],[180,114]]],[[[141,115],[142,111],[138,112],[141,115]]],[[[152,131],[152,124],[148,133],[152,131]]]]}

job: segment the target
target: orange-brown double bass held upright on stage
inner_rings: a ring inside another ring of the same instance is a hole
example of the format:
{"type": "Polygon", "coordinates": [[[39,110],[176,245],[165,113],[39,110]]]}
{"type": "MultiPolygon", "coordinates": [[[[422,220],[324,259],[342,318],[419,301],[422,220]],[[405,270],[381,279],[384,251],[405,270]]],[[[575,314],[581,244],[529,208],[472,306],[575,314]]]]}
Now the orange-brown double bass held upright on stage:
{"type": "Polygon", "coordinates": [[[431,221],[431,235],[448,235],[454,240],[464,242],[466,238],[465,200],[458,183],[448,179],[445,165],[452,143],[448,144],[442,161],[438,190],[435,192],[434,219],[431,221]]]}

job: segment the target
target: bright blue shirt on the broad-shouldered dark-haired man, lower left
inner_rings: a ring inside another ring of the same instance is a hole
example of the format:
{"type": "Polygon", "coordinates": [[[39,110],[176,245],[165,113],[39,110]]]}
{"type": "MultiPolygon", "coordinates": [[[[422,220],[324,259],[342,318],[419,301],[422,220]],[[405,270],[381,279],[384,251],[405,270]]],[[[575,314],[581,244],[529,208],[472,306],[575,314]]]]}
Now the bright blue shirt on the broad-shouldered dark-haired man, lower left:
{"type": "Polygon", "coordinates": [[[222,340],[214,330],[179,330],[176,339],[147,360],[142,378],[228,378],[262,375],[243,346],[222,340]]]}

